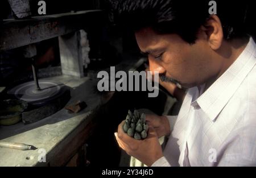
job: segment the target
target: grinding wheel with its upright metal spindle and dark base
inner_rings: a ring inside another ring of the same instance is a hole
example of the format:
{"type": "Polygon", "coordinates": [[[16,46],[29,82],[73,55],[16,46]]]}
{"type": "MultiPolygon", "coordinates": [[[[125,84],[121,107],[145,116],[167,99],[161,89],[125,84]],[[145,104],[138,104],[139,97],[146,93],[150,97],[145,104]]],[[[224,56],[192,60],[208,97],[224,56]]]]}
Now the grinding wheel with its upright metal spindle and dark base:
{"type": "Polygon", "coordinates": [[[24,123],[36,122],[56,113],[64,107],[70,98],[69,89],[61,82],[47,79],[38,80],[35,56],[35,44],[27,45],[24,48],[24,57],[30,58],[32,61],[34,81],[15,86],[7,92],[11,96],[28,103],[28,109],[22,113],[24,123]]]}

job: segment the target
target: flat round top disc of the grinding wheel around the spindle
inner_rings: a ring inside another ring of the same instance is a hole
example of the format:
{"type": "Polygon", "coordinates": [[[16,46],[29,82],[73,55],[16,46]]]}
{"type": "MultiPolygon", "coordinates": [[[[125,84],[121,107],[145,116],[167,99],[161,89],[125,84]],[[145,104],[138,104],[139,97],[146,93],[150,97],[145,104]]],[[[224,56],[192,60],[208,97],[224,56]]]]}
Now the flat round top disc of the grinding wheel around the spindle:
{"type": "Polygon", "coordinates": [[[42,106],[60,97],[67,90],[64,84],[52,80],[39,80],[40,90],[30,81],[10,89],[8,94],[34,106],[42,106]]]}

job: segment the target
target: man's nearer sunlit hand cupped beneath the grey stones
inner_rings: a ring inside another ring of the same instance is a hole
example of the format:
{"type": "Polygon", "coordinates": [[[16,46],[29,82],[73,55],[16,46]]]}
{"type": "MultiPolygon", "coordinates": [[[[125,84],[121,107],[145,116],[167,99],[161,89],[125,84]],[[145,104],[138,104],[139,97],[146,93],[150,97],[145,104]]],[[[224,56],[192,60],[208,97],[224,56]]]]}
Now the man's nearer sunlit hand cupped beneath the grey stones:
{"type": "Polygon", "coordinates": [[[131,138],[123,131],[123,124],[118,126],[118,133],[115,133],[115,138],[123,150],[130,156],[140,160],[142,163],[151,166],[156,160],[163,156],[163,151],[160,146],[158,135],[153,127],[148,128],[148,136],[144,140],[136,140],[131,138]]]}

